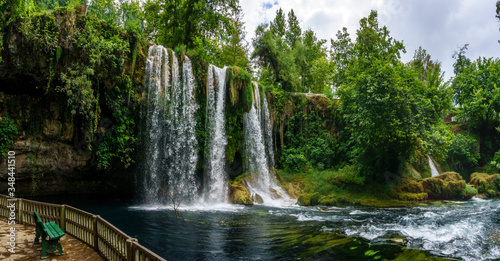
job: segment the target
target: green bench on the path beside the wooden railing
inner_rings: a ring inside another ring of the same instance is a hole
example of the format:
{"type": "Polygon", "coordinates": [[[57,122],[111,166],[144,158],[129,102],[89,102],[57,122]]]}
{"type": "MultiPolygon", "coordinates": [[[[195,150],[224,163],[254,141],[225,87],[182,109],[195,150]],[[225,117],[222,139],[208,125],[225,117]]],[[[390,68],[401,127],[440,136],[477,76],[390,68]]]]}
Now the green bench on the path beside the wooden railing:
{"type": "Polygon", "coordinates": [[[64,236],[62,229],[54,221],[43,223],[36,211],[33,211],[33,217],[36,223],[35,244],[40,244],[39,238],[42,237],[42,254],[40,255],[40,259],[47,258],[47,251],[55,252],[57,250],[60,256],[63,255],[64,252],[61,243],[59,243],[59,239],[64,236]]]}

